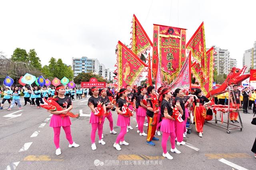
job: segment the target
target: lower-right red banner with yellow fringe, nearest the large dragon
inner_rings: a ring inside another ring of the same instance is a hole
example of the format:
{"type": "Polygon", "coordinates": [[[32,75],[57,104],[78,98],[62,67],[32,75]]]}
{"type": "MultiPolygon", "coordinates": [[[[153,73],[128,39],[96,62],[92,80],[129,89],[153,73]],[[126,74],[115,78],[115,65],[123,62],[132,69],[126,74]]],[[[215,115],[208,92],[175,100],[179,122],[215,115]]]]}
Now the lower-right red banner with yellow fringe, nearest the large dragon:
{"type": "Polygon", "coordinates": [[[206,52],[206,76],[203,74],[202,65],[200,63],[192,64],[191,71],[199,82],[201,86],[201,90],[204,95],[206,95],[210,90],[212,90],[212,82],[213,82],[213,72],[214,72],[214,48],[210,48],[206,52]]]}

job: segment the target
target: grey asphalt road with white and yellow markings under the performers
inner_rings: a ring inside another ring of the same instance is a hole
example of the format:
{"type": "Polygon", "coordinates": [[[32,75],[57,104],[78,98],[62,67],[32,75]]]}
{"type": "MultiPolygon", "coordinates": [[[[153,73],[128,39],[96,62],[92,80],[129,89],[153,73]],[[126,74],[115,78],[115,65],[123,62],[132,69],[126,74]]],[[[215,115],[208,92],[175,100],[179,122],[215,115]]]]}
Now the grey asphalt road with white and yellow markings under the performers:
{"type": "MultiPolygon", "coordinates": [[[[75,100],[73,105],[74,113],[81,113],[80,110],[82,110],[83,115],[90,114],[86,99],[75,100]]],[[[112,113],[114,130],[119,133],[120,128],[116,127],[117,114],[115,111],[112,113]]],[[[125,141],[130,145],[121,146],[122,150],[120,151],[113,147],[117,135],[109,133],[107,119],[103,128],[106,145],[96,143],[97,150],[92,150],[89,115],[81,116],[78,119],[71,118],[72,138],[80,147],[69,148],[62,130],[60,134],[62,154],[56,156],[53,130],[49,127],[50,114],[46,109],[36,109],[36,107],[30,106],[24,106],[20,111],[17,107],[14,107],[12,111],[4,109],[0,110],[0,169],[231,170],[232,168],[245,168],[253,170],[256,169],[256,159],[250,150],[256,137],[256,126],[250,123],[252,116],[253,114],[241,113],[243,130],[234,129],[230,134],[227,134],[225,129],[206,123],[204,135],[200,138],[192,125],[192,133],[188,134],[184,140],[188,144],[176,146],[182,153],[171,153],[174,159],[168,160],[162,157],[162,137],[159,137],[160,141],[155,142],[155,147],[146,145],[146,137],[141,137],[136,133],[135,117],[131,118],[134,130],[130,130],[125,136],[125,141]]],[[[219,114],[217,117],[220,117],[219,114]]],[[[224,120],[226,120],[226,115],[224,120]]],[[[144,126],[144,131],[146,130],[147,127],[144,126]]],[[[96,142],[98,142],[98,135],[96,135],[96,142]]],[[[168,142],[167,148],[170,150],[170,142],[168,142]]]]}

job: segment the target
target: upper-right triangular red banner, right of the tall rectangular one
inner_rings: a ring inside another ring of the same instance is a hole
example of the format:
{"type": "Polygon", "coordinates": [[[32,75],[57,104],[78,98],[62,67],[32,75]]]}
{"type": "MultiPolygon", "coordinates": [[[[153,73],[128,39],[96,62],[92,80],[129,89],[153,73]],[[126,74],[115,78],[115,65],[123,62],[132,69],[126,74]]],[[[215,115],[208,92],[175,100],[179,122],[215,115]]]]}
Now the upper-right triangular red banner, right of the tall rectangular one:
{"type": "Polygon", "coordinates": [[[198,27],[194,35],[190,38],[186,45],[187,49],[192,51],[192,56],[198,63],[202,65],[202,71],[207,75],[207,59],[204,36],[204,22],[198,27]]]}

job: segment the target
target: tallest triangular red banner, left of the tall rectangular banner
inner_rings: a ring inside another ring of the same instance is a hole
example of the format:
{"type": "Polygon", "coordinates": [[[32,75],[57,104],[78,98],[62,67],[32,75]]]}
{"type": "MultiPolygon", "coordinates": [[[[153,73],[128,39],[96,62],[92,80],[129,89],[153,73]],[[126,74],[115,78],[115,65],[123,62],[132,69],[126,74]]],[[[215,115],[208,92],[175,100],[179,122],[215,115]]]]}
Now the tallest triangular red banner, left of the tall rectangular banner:
{"type": "Polygon", "coordinates": [[[143,27],[140,25],[139,20],[133,14],[132,19],[132,52],[140,56],[141,53],[144,53],[146,50],[150,49],[152,42],[150,41],[148,35],[146,34],[143,27]]]}

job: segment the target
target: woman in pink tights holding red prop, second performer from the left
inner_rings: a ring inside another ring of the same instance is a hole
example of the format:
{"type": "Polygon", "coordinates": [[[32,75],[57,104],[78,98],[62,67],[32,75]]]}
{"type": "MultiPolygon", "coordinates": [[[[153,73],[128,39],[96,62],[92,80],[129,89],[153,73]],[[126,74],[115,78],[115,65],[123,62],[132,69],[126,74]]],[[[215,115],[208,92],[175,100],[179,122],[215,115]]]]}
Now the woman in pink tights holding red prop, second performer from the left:
{"type": "Polygon", "coordinates": [[[106,143],[102,140],[102,131],[103,131],[103,123],[104,123],[104,114],[106,113],[106,106],[103,104],[103,98],[102,96],[99,96],[99,89],[97,87],[92,87],[91,91],[89,92],[90,98],[88,100],[88,106],[91,109],[91,117],[90,117],[90,123],[92,124],[92,132],[91,132],[91,141],[92,141],[92,150],[96,150],[96,144],[95,144],[95,136],[96,131],[98,129],[98,135],[99,135],[99,142],[101,145],[105,145],[106,143]],[[96,108],[97,107],[97,108],[96,108]],[[103,115],[100,112],[104,111],[103,115]]]}

